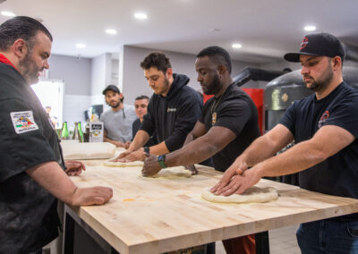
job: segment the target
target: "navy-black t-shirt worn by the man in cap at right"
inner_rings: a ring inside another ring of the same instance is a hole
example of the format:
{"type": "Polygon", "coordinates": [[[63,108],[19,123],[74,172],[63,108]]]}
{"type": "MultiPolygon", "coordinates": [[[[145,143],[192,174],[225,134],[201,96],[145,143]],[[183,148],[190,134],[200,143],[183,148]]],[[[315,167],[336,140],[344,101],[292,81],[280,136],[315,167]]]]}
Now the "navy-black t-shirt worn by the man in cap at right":
{"type": "Polygon", "coordinates": [[[336,155],[300,172],[299,183],[306,190],[358,199],[358,89],[343,82],[320,100],[312,94],[295,101],[280,123],[294,134],[296,143],[310,140],[325,125],[354,135],[354,142],[336,155]]]}

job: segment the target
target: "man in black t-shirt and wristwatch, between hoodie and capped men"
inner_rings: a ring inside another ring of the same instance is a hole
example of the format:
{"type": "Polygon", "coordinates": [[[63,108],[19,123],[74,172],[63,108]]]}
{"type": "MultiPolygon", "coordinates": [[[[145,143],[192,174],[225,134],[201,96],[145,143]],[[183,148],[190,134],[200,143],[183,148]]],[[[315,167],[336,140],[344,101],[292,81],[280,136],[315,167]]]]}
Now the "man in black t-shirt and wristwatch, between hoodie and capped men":
{"type": "MultiPolygon", "coordinates": [[[[142,174],[157,174],[162,167],[192,165],[209,157],[216,170],[225,172],[234,159],[260,136],[258,113],[251,98],[231,78],[231,57],[221,47],[207,47],[197,55],[195,68],[204,93],[214,95],[183,148],[165,156],[150,156],[142,174]]],[[[252,253],[254,237],[223,241],[227,253],[252,253]]]]}

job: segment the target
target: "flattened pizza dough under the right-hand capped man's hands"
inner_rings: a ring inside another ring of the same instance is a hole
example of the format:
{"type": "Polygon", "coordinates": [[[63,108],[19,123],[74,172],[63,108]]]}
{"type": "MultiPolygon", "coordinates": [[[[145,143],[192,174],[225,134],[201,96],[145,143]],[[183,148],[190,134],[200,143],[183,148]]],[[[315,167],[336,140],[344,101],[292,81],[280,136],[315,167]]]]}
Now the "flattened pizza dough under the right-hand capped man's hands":
{"type": "Polygon", "coordinates": [[[208,188],[201,193],[201,198],[216,203],[264,203],[278,199],[278,192],[272,187],[259,188],[253,186],[241,195],[233,194],[225,197],[211,193],[208,188]]]}

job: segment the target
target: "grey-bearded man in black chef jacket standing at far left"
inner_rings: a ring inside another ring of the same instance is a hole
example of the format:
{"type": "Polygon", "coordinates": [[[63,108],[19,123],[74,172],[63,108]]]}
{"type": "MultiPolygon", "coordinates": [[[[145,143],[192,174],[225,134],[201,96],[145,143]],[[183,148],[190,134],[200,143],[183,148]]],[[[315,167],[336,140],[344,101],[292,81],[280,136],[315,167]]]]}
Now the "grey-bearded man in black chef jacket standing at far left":
{"type": "Polygon", "coordinates": [[[52,36],[38,21],[15,17],[0,26],[0,253],[41,253],[58,234],[57,199],[104,204],[105,187],[77,188],[65,174],[55,130],[30,84],[48,69],[52,36]]]}

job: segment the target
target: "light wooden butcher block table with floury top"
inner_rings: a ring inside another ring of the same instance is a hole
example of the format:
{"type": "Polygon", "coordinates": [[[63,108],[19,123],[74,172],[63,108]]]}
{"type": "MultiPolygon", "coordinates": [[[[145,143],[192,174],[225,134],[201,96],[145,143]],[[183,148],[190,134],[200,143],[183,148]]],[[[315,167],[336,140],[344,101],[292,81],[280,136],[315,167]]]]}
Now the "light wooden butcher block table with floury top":
{"type": "Polygon", "coordinates": [[[120,253],[162,253],[260,233],[292,224],[358,212],[358,199],[323,195],[268,180],[279,198],[267,203],[218,204],[200,198],[222,173],[198,165],[191,178],[141,177],[141,167],[107,167],[103,160],[83,161],[80,187],[109,186],[114,197],[105,206],[71,208],[76,216],[120,253]]]}

